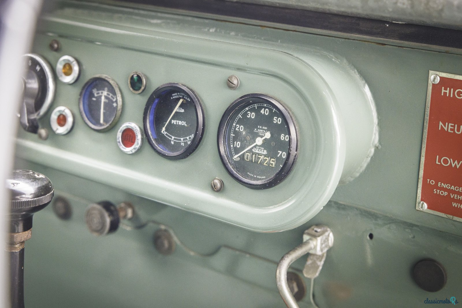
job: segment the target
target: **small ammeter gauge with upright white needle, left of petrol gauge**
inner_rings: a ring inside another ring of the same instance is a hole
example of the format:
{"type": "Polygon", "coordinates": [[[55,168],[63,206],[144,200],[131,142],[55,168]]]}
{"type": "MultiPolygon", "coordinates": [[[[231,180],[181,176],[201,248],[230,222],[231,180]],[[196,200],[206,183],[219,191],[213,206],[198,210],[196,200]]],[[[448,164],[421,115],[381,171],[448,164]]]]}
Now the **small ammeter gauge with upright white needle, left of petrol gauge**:
{"type": "Polygon", "coordinates": [[[119,87],[109,76],[95,76],[82,88],[79,107],[89,127],[106,131],[116,124],[122,111],[119,87]]]}

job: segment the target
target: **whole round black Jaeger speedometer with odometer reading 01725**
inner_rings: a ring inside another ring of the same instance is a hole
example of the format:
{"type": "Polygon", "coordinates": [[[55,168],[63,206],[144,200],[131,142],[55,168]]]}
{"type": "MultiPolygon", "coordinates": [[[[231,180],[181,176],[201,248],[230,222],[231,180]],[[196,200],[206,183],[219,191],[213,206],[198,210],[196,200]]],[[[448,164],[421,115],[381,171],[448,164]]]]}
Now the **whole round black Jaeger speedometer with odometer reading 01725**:
{"type": "Polygon", "coordinates": [[[297,157],[297,130],[286,107],[265,94],[234,101],[221,118],[220,158],[243,185],[264,189],[279,184],[297,157]]]}

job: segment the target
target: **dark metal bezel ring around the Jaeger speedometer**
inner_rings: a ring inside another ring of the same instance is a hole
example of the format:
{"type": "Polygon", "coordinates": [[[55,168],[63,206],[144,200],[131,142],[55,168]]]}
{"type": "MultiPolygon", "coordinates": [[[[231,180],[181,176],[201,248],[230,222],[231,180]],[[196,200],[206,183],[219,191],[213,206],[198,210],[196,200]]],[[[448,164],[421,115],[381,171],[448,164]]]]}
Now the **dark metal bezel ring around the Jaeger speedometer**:
{"type": "Polygon", "coordinates": [[[287,107],[281,103],[278,99],[269,96],[267,94],[262,93],[250,93],[246,94],[242,97],[239,97],[235,100],[231,105],[226,109],[225,113],[221,117],[219,128],[218,128],[218,151],[221,162],[225,166],[226,171],[239,183],[242,185],[252,188],[252,189],[266,189],[270,187],[274,187],[275,185],[279,184],[283,180],[286,179],[287,175],[289,175],[292,167],[297,159],[298,153],[298,133],[297,133],[297,126],[296,122],[293,120],[292,113],[287,109],[287,107]],[[247,104],[249,99],[251,98],[259,98],[268,101],[269,103],[273,104],[277,109],[279,109],[281,115],[283,115],[287,122],[287,129],[290,133],[290,143],[289,149],[287,151],[286,161],[284,162],[281,169],[271,178],[265,180],[249,180],[234,169],[231,164],[230,158],[227,155],[226,151],[226,127],[228,127],[231,119],[231,115],[239,109],[242,105],[247,104]]]}

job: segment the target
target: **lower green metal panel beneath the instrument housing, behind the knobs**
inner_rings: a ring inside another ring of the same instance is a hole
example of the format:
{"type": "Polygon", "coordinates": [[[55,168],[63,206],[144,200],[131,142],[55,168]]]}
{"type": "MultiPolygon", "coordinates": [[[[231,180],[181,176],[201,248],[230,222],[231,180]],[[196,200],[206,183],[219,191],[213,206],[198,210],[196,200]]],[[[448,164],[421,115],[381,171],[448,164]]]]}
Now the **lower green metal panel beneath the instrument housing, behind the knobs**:
{"type": "MultiPolygon", "coordinates": [[[[457,236],[336,202],[299,228],[255,233],[55,169],[18,164],[47,174],[56,195],[67,197],[73,208],[69,221],[57,218],[51,205],[34,217],[25,254],[29,307],[282,308],[276,262],[301,242],[305,229],[319,223],[330,226],[335,237],[315,279],[319,307],[370,307],[372,302],[374,307],[423,307],[427,297],[460,297],[457,236]],[[103,199],[133,202],[143,220],[168,225],[185,246],[209,256],[192,256],[178,246],[174,254],[160,255],[152,243],[154,224],[92,236],[84,212],[92,200],[103,199]],[[429,293],[413,282],[412,266],[424,258],[445,267],[443,290],[429,293]]],[[[302,270],[304,260],[292,268],[302,270]]],[[[310,281],[305,284],[309,288],[310,281]]],[[[310,307],[308,296],[300,307],[310,307]]]]}

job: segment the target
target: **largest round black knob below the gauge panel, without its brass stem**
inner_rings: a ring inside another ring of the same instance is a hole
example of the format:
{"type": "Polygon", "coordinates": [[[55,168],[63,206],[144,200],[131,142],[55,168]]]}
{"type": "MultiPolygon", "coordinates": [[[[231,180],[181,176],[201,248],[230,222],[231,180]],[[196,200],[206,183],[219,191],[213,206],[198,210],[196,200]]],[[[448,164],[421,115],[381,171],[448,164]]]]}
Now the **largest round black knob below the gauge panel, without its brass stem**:
{"type": "Polygon", "coordinates": [[[85,220],[91,233],[102,236],[117,230],[120,216],[116,205],[109,201],[101,201],[88,206],[85,220]]]}

